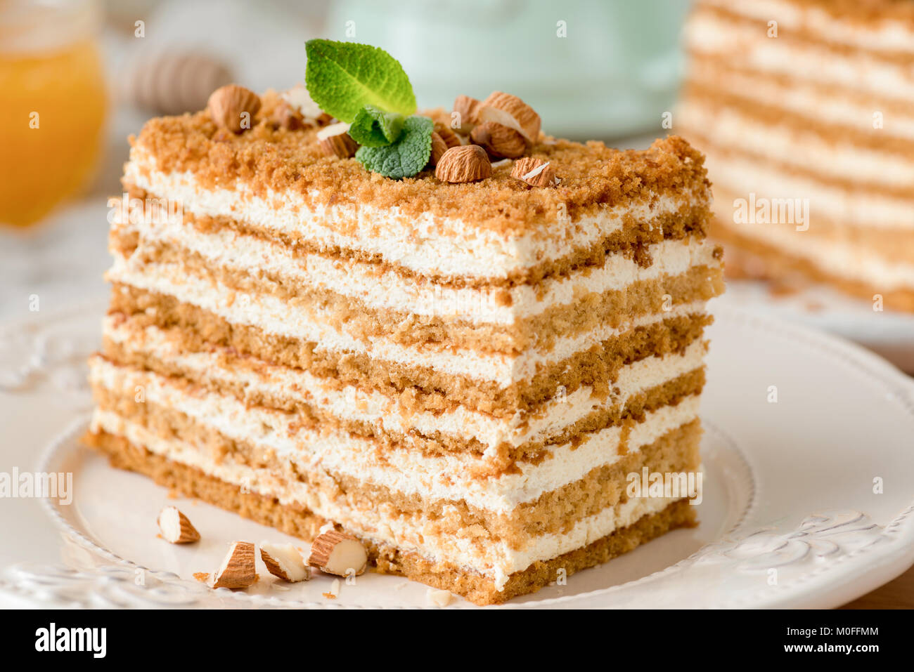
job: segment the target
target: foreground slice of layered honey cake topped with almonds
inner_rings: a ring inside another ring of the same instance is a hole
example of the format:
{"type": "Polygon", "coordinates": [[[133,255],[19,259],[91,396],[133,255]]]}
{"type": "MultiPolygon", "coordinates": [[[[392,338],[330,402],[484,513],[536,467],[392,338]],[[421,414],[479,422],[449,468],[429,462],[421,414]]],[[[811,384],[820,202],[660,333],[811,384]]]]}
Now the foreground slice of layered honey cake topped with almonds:
{"type": "Polygon", "coordinates": [[[477,604],[694,524],[628,485],[699,468],[701,154],[556,140],[501,92],[346,110],[312,47],[319,105],[229,87],[133,139],[90,443],[477,604]]]}

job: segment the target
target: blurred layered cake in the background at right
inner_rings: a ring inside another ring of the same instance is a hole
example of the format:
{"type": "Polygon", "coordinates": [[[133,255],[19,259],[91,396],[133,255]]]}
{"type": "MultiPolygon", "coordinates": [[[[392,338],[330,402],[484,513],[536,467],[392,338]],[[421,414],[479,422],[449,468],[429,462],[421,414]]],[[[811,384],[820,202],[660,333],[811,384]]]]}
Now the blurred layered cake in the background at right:
{"type": "Polygon", "coordinates": [[[701,0],[685,42],[728,270],[914,310],[914,3],[701,0]]]}

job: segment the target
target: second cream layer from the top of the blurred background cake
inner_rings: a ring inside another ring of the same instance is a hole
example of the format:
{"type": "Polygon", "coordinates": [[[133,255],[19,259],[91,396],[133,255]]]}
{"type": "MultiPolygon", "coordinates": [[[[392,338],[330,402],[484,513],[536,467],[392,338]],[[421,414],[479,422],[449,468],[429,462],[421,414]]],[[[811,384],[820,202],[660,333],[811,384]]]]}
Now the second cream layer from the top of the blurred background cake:
{"type": "Polygon", "coordinates": [[[699,10],[685,26],[685,45],[695,54],[726,59],[739,68],[832,84],[887,100],[914,100],[914,77],[905,64],[866,51],[841,54],[812,42],[767,37],[768,20],[775,19],[771,16],[758,26],[744,26],[699,10]]]}

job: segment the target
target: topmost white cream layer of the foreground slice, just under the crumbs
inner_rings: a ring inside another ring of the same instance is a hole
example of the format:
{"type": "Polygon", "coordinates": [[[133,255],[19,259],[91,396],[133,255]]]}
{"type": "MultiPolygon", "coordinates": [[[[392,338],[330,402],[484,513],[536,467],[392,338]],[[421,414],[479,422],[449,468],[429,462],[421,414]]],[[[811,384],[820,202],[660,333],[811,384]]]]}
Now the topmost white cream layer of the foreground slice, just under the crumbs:
{"type": "MultiPolygon", "coordinates": [[[[675,194],[619,205],[600,215],[563,225],[566,235],[532,232],[505,238],[456,219],[430,213],[400,215],[398,208],[378,210],[362,205],[305,205],[297,194],[252,194],[245,184],[207,190],[192,173],[163,173],[154,157],[134,147],[124,179],[151,194],[183,204],[195,215],[227,216],[271,232],[307,240],[325,249],[368,252],[420,274],[470,278],[505,278],[510,273],[564,257],[570,249],[590,246],[624,226],[627,217],[650,221],[677,212],[688,203],[707,203],[708,195],[675,194]]],[[[318,195],[318,194],[315,194],[318,195]]]]}

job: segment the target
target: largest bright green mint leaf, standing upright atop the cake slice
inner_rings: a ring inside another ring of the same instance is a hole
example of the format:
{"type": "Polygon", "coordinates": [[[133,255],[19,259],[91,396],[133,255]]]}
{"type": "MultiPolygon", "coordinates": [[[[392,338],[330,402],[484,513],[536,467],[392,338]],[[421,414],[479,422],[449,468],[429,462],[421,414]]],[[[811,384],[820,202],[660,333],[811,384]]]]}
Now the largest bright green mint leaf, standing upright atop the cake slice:
{"type": "Polygon", "coordinates": [[[310,39],[304,82],[321,110],[351,123],[366,105],[408,115],[416,111],[409,77],[384,49],[355,42],[310,39]]]}

